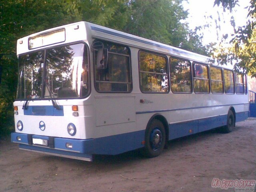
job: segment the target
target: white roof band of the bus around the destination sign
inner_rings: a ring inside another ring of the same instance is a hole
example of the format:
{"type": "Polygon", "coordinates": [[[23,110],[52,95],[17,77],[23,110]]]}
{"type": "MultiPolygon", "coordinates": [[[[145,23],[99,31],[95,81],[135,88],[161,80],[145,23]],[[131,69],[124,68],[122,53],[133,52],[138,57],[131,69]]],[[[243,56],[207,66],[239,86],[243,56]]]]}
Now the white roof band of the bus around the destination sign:
{"type": "MultiPolygon", "coordinates": [[[[200,55],[194,52],[190,52],[190,51],[176,48],[170,45],[162,44],[160,42],[156,42],[153,40],[149,40],[149,39],[128,34],[125,32],[121,32],[111,28],[92,24],[89,22],[76,22],[76,23],[67,24],[64,26],[58,26],[55,28],[37,32],[35,34],[31,34],[24,38],[20,38],[17,40],[17,56],[19,54],[23,54],[33,50],[42,49],[42,47],[46,48],[46,47],[56,46],[59,44],[66,44],[66,43],[72,43],[72,42],[84,41],[84,40],[88,41],[88,39],[90,40],[91,38],[96,38],[100,40],[110,40],[112,42],[117,42],[127,46],[132,46],[132,47],[145,49],[145,50],[157,51],[162,54],[168,54],[171,56],[186,58],[188,60],[194,60],[196,62],[202,62],[205,64],[209,64],[209,60],[210,60],[210,57],[207,57],[204,55],[200,55]],[[42,36],[44,34],[54,32],[56,30],[63,29],[63,28],[65,29],[65,34],[66,34],[64,41],[56,42],[54,44],[48,44],[38,48],[29,49],[30,38],[34,38],[36,36],[42,36]]],[[[229,68],[229,67],[224,66],[224,68],[229,68]]]]}

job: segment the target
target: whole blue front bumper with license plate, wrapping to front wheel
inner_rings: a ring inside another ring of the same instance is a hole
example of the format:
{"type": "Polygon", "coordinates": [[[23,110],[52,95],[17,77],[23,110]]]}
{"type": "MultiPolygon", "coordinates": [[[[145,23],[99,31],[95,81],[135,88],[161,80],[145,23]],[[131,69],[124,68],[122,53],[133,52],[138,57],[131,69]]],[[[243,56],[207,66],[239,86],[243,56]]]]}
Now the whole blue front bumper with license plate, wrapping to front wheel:
{"type": "Polygon", "coordinates": [[[23,150],[92,161],[92,154],[116,155],[142,148],[144,136],[145,130],[93,139],[70,139],[15,132],[12,133],[12,142],[20,144],[19,147],[23,150]],[[68,147],[70,144],[72,148],[68,147]]]}

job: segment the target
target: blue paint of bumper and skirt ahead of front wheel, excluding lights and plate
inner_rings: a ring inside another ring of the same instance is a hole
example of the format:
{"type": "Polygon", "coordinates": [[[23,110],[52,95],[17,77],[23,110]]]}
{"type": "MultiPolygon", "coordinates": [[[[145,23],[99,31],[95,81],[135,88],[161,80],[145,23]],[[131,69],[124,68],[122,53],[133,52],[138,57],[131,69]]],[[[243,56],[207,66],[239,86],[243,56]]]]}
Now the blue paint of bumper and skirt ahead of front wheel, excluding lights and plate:
{"type": "MultiPolygon", "coordinates": [[[[12,142],[20,143],[21,148],[25,148],[30,150],[39,150],[48,152],[56,152],[59,151],[70,151],[74,156],[76,154],[106,154],[106,155],[116,155],[123,152],[131,151],[137,148],[141,148],[144,145],[142,141],[144,140],[145,130],[130,132],[125,134],[118,134],[113,136],[107,136],[96,139],[70,139],[70,138],[54,138],[54,148],[49,149],[40,146],[32,146],[28,145],[28,134],[21,133],[12,133],[12,142]],[[18,141],[17,136],[21,136],[24,140],[18,141]],[[66,143],[71,143],[73,148],[66,148],[66,143]],[[24,145],[25,144],[25,145],[24,145]],[[44,150],[45,149],[45,150],[44,150]]],[[[32,136],[33,138],[46,138],[42,136],[32,136]]]]}

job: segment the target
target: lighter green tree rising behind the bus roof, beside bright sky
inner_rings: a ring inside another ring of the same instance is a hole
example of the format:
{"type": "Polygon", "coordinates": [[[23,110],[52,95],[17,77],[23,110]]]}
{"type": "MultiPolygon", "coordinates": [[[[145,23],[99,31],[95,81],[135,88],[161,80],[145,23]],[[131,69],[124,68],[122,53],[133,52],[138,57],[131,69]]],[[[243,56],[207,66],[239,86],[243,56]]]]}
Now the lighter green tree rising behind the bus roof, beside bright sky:
{"type": "Polygon", "coordinates": [[[182,22],[182,0],[67,0],[67,11],[84,20],[208,55],[200,37],[182,22]]]}

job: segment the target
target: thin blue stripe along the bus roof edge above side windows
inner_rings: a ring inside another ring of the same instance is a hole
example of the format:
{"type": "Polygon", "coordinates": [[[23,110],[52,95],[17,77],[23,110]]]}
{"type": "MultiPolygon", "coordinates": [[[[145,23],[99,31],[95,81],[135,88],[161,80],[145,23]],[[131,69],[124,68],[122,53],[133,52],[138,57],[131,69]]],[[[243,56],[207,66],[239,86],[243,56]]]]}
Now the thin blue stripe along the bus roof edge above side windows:
{"type": "Polygon", "coordinates": [[[155,47],[158,47],[158,48],[164,48],[164,49],[167,49],[167,50],[172,51],[172,52],[176,52],[176,53],[180,53],[180,54],[186,54],[186,55],[190,55],[190,56],[195,56],[195,54],[191,54],[189,52],[184,52],[183,50],[177,50],[177,49],[170,48],[170,47],[167,47],[167,46],[164,46],[164,45],[148,42],[148,41],[145,41],[145,40],[141,40],[141,39],[138,39],[138,38],[130,37],[130,36],[127,36],[127,35],[124,35],[124,34],[119,34],[119,33],[112,32],[112,31],[109,31],[109,30],[105,30],[105,29],[102,29],[102,28],[91,26],[91,29],[94,30],[94,31],[110,34],[110,35],[121,37],[121,38],[125,38],[125,39],[128,39],[128,40],[132,40],[132,41],[148,44],[148,45],[155,46],[155,47]]]}

